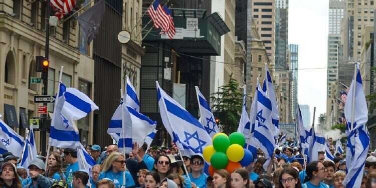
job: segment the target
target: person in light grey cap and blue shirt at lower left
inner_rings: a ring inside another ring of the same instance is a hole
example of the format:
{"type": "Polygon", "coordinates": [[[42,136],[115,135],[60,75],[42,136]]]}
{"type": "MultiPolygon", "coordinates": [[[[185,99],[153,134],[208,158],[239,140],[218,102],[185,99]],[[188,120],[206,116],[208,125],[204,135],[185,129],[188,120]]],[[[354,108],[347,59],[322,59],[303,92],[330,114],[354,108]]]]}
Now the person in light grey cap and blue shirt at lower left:
{"type": "Polygon", "coordinates": [[[54,179],[45,177],[45,163],[39,158],[30,161],[28,166],[30,177],[26,178],[22,185],[25,188],[47,188],[54,183],[54,179]]]}

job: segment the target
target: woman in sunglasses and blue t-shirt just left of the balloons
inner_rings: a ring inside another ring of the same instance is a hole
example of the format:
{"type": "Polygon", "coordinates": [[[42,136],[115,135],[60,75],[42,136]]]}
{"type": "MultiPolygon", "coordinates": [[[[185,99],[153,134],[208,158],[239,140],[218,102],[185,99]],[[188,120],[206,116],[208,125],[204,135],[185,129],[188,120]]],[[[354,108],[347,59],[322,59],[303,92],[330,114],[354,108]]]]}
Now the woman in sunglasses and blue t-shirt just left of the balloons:
{"type": "Polygon", "coordinates": [[[192,188],[206,188],[206,178],[208,175],[203,173],[204,166],[203,156],[198,154],[191,156],[192,173],[188,175],[191,178],[192,188]]]}

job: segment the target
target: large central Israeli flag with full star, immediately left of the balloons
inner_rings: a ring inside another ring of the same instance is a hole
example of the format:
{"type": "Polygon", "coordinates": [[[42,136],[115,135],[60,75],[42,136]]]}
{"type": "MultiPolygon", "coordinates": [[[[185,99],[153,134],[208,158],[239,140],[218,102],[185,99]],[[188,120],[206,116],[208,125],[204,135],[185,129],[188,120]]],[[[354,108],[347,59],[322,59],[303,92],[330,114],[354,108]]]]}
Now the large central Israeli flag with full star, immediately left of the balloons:
{"type": "Polygon", "coordinates": [[[204,126],[179,103],[168,96],[156,81],[157,99],[164,127],[181,154],[203,153],[212,144],[204,126]]]}

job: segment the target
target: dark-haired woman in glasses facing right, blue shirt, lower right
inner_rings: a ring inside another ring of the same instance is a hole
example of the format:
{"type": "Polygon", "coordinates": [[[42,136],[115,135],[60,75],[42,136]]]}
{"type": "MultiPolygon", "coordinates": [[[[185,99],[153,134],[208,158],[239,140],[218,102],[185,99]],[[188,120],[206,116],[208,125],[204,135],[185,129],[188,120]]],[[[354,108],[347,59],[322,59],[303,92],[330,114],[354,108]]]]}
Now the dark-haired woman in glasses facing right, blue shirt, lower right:
{"type": "Polygon", "coordinates": [[[325,166],[319,161],[313,161],[307,164],[305,169],[306,177],[303,188],[328,188],[329,186],[322,181],[325,178],[325,166]]]}

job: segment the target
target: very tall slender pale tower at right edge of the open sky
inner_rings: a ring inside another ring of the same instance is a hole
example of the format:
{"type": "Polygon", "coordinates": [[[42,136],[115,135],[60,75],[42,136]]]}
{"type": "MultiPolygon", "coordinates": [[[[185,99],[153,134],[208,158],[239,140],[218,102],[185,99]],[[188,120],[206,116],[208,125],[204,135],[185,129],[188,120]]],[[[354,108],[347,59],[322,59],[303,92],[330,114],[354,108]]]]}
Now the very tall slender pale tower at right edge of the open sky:
{"type": "Polygon", "coordinates": [[[345,1],[329,1],[329,35],[328,35],[328,62],[327,62],[327,80],[326,80],[326,119],[334,119],[336,116],[336,83],[338,50],[340,45],[340,24],[344,18],[345,1]]]}

